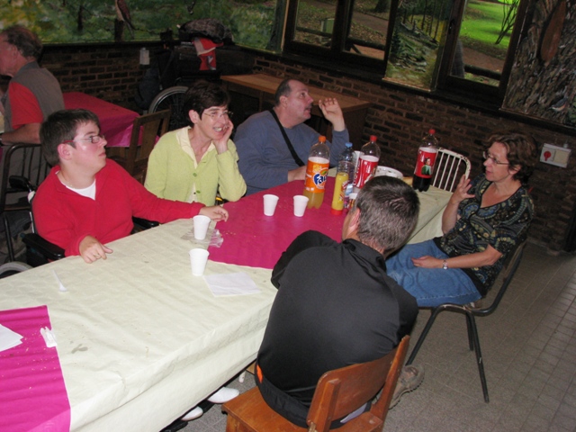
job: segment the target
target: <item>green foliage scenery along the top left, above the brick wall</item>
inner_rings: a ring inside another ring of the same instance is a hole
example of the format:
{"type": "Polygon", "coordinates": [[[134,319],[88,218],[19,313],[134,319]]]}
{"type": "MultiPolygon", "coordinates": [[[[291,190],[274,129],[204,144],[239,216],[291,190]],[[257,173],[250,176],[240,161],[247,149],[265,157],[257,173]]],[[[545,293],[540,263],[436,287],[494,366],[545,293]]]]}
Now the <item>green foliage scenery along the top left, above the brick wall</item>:
{"type": "MultiPolygon", "coordinates": [[[[230,28],[237,43],[266,48],[275,23],[274,0],[201,0],[194,5],[192,15],[186,6],[193,0],[126,1],[136,29],[132,35],[125,28],[123,38],[127,41],[158,40],[166,29],[177,35],[180,24],[215,18],[230,28]]],[[[22,24],[36,31],[44,43],[105,42],[113,40],[115,20],[114,0],[13,0],[10,7],[3,7],[0,28],[22,24]]]]}

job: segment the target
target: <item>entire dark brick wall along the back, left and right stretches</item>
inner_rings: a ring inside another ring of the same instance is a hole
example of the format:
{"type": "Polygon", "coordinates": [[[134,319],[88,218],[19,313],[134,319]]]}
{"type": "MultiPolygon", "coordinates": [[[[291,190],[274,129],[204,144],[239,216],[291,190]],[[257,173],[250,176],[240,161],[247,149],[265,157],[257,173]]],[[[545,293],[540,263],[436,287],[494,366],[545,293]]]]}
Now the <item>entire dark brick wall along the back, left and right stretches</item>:
{"type": "MultiPolygon", "coordinates": [[[[138,44],[47,47],[42,66],[48,67],[65,92],[80,91],[139,111],[133,97],[146,67],[139,66],[138,44]]],[[[154,49],[151,49],[151,58],[154,49]]],[[[253,55],[253,54],[251,54],[253,55]]],[[[274,56],[257,56],[255,72],[273,76],[293,76],[302,81],[374,103],[369,110],[364,138],[376,135],[383,148],[381,163],[410,174],[419,139],[431,127],[443,147],[470,157],[473,175],[482,172],[482,139],[494,130],[524,130],[540,143],[576,148],[571,135],[538,128],[460,107],[431,97],[367,83],[349,77],[285,62],[274,56]]],[[[356,145],[362,143],[355,143],[356,145]]],[[[576,202],[576,160],[568,168],[538,164],[531,178],[536,202],[536,220],[530,238],[553,251],[565,248],[576,202]]]]}

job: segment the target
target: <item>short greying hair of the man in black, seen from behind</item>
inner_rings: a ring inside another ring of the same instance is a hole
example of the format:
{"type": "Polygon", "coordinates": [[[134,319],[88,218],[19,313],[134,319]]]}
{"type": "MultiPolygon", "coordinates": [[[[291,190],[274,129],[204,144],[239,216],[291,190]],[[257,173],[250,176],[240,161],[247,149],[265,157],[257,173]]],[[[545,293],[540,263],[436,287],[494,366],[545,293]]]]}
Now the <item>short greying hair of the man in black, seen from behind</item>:
{"type": "Polygon", "coordinates": [[[401,247],[418,221],[416,192],[399,178],[386,175],[368,181],[356,198],[360,210],[358,238],[388,255],[401,247]]]}

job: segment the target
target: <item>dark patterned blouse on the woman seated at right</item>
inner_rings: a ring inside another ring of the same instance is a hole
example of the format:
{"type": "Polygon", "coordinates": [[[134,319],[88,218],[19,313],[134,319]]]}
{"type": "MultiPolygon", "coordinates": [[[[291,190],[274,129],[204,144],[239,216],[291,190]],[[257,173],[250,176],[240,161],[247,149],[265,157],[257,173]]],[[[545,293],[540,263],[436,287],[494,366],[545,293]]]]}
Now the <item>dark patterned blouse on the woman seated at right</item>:
{"type": "Polygon", "coordinates": [[[502,257],[492,266],[463,268],[482,294],[488,293],[500,273],[509,253],[527,238],[527,230],[534,217],[534,203],[524,185],[518,188],[508,200],[482,208],[482,195],[491,182],[485,175],[474,178],[469,193],[474,198],[465,199],[458,206],[455,227],[444,237],[435,238],[437,247],[448,257],[482,252],[494,247],[502,257]]]}

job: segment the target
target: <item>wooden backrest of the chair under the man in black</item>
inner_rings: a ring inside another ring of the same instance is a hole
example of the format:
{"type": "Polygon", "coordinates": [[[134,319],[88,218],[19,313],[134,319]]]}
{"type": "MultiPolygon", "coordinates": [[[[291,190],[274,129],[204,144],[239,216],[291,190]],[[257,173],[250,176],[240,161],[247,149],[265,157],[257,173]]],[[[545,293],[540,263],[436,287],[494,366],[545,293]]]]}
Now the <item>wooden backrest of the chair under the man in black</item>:
{"type": "MultiPolygon", "coordinates": [[[[392,395],[408,350],[409,336],[378,360],[350,365],[323,374],[314,392],[308,413],[309,431],[327,432],[334,419],[340,419],[370,401],[382,389],[370,413],[382,420],[388,414],[392,395]]],[[[350,420],[350,423],[355,419],[350,420]]]]}

